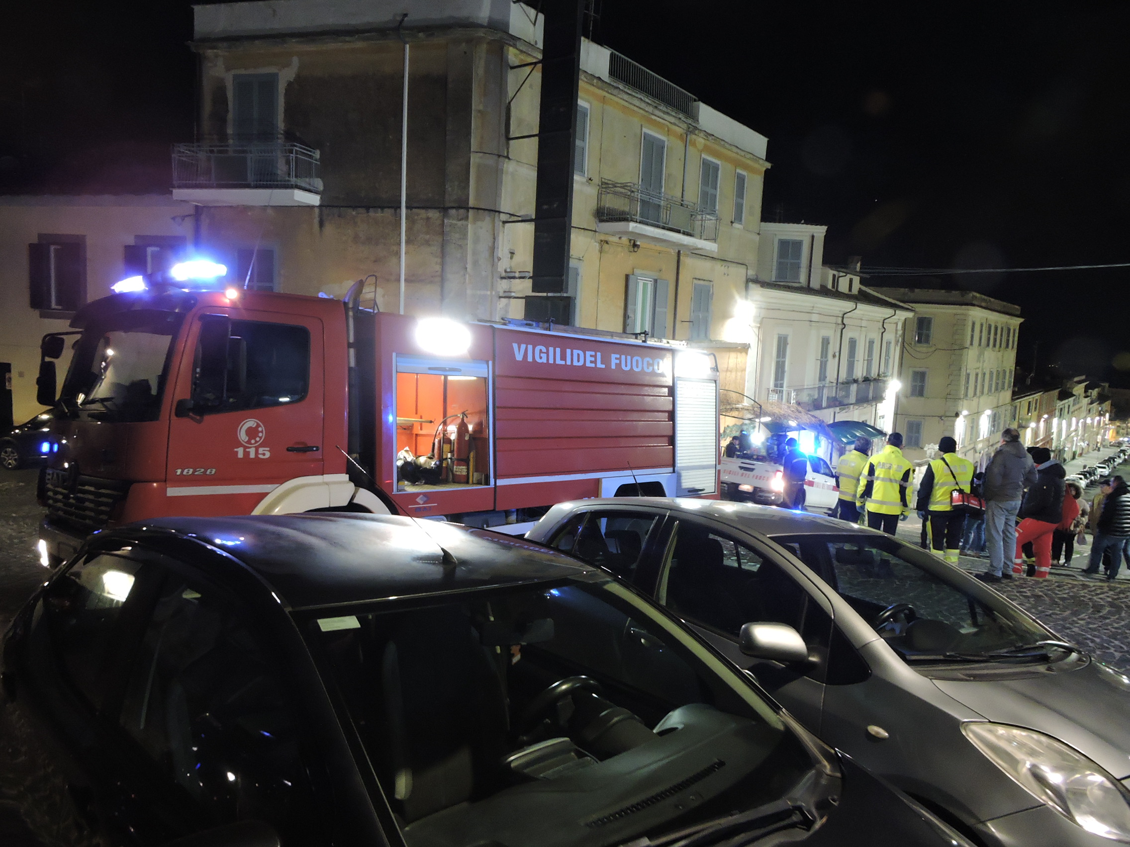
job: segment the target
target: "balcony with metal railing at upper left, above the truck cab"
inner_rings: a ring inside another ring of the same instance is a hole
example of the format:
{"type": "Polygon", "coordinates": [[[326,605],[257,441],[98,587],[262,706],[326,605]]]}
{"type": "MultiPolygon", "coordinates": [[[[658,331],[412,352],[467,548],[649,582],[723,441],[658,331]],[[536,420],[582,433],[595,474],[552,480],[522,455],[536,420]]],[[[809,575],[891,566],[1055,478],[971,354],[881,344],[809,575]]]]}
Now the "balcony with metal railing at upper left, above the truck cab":
{"type": "Polygon", "coordinates": [[[173,199],[203,206],[318,206],[319,151],[288,141],[173,145],[173,199]]]}

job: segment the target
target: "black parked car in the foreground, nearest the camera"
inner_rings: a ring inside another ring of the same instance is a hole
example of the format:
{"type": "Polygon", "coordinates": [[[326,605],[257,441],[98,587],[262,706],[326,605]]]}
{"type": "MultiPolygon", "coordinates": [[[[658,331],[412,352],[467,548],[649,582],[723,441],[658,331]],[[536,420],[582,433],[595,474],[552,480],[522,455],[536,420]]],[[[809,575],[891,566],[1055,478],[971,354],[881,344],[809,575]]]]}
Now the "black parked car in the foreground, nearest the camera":
{"type": "Polygon", "coordinates": [[[3,661],[0,779],[50,844],[970,847],[624,583],[488,531],[98,533],[3,661]]]}

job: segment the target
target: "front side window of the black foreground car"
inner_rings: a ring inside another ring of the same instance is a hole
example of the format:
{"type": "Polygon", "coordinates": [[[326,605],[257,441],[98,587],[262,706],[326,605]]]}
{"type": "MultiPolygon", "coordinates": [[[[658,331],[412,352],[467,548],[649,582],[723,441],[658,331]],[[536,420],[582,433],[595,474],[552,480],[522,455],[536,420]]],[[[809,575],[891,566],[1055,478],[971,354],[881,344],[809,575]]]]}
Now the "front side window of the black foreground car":
{"type": "Polygon", "coordinates": [[[319,842],[292,700],[241,610],[165,573],[119,721],[210,824],[259,819],[284,844],[319,842]]]}

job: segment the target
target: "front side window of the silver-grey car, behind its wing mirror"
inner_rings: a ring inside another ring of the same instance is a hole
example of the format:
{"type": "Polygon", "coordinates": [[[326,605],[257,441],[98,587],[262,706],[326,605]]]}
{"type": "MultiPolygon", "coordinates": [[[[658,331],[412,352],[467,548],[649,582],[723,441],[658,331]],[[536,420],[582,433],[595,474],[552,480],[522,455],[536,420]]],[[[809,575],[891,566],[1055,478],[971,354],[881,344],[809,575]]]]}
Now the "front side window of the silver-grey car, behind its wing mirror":
{"type": "Polygon", "coordinates": [[[734,637],[754,621],[803,628],[808,594],[779,565],[689,521],[675,531],[659,596],[671,611],[734,637]]]}

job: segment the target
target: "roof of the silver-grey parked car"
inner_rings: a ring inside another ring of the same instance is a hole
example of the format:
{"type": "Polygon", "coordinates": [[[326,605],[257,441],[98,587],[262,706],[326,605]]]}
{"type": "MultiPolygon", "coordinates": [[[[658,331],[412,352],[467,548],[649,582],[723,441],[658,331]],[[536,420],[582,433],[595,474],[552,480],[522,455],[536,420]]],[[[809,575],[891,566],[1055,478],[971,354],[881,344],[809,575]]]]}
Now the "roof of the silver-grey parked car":
{"type": "MultiPolygon", "coordinates": [[[[756,506],[751,503],[730,500],[706,500],[693,497],[606,497],[591,500],[575,500],[574,508],[592,506],[643,506],[660,508],[685,515],[699,515],[763,535],[801,535],[806,533],[861,533],[873,532],[858,524],[840,521],[810,512],[796,512],[779,506],[756,506]]],[[[571,509],[573,510],[573,509],[571,509]]]]}

